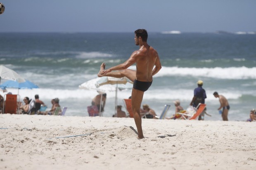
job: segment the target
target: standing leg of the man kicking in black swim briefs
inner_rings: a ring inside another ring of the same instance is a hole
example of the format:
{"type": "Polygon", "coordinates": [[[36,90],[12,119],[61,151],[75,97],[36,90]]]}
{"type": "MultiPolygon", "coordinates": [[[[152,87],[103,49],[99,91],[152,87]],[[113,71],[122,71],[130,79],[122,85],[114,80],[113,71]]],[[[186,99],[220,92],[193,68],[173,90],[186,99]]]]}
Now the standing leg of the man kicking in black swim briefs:
{"type": "Polygon", "coordinates": [[[143,132],[142,132],[142,120],[140,116],[140,106],[141,102],[143,99],[144,91],[137,90],[133,88],[132,91],[132,109],[133,109],[133,116],[134,116],[134,121],[137,127],[138,131],[138,138],[142,139],[144,138],[143,132]]]}

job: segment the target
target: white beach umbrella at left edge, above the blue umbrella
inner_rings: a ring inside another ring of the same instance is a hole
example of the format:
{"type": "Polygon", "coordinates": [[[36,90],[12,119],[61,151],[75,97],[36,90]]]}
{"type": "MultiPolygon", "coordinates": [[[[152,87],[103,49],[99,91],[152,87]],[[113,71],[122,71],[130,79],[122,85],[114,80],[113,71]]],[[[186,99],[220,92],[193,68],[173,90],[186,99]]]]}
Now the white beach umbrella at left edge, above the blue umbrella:
{"type": "Polygon", "coordinates": [[[4,65],[0,65],[0,82],[1,82],[1,78],[2,79],[8,79],[8,80],[17,81],[19,83],[22,83],[22,82],[26,81],[17,72],[15,72],[14,70],[11,70],[11,69],[5,67],[4,65]]]}

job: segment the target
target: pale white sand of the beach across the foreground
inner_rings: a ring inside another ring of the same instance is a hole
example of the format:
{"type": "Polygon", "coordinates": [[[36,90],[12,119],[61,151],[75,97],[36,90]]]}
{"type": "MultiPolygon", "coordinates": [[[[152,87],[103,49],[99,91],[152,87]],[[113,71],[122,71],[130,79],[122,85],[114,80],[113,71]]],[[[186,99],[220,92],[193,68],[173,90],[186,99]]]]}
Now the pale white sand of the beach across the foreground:
{"type": "Polygon", "coordinates": [[[256,122],[142,119],[142,140],[132,118],[0,114],[0,128],[1,170],[256,169],[256,122]]]}

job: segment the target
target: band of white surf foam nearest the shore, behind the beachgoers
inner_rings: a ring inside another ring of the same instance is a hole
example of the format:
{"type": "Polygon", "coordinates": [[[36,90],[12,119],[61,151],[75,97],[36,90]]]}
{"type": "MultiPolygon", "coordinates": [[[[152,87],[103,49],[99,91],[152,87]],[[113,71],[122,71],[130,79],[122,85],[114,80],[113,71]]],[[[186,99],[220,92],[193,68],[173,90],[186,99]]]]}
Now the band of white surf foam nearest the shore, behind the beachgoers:
{"type": "MultiPolygon", "coordinates": [[[[18,89],[7,88],[7,92],[12,92],[13,94],[18,93],[18,89]]],[[[104,88],[102,88],[104,90],[104,88]]],[[[129,98],[131,95],[132,89],[123,89],[117,91],[117,98],[122,100],[124,98],[129,98]]],[[[7,93],[6,92],[6,93],[7,93]]],[[[107,93],[107,97],[110,99],[114,99],[116,95],[115,86],[112,89],[106,88],[105,91],[107,93]]],[[[213,100],[215,101],[216,98],[213,96],[213,92],[211,90],[206,89],[207,101],[213,100]]],[[[2,93],[4,95],[6,93],[2,93]]],[[[35,88],[35,89],[20,89],[19,95],[21,98],[29,97],[34,98],[35,94],[39,94],[40,98],[51,100],[52,98],[59,98],[60,100],[69,100],[69,99],[81,99],[81,100],[91,100],[95,95],[99,94],[97,89],[51,89],[51,88],[35,88]]],[[[229,91],[228,89],[224,89],[221,91],[228,99],[239,99],[244,94],[251,94],[247,91],[229,91]]],[[[145,94],[143,99],[146,100],[167,100],[173,101],[176,99],[179,100],[192,100],[194,95],[194,89],[172,89],[172,88],[161,88],[161,89],[149,89],[145,94]],[[167,95],[168,94],[168,95],[167,95]]]]}

